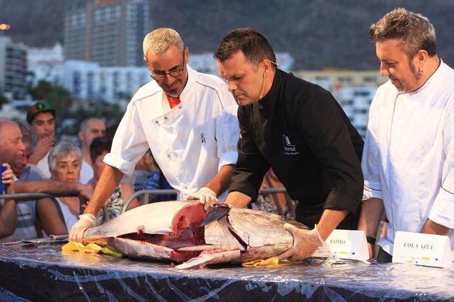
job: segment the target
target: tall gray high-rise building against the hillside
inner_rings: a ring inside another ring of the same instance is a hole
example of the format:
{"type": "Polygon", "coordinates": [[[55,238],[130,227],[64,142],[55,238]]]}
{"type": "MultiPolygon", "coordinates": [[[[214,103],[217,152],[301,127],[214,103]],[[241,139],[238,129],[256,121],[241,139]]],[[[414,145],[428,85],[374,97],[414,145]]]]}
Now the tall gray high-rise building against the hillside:
{"type": "Polygon", "coordinates": [[[97,0],[67,10],[66,59],[101,66],[141,66],[143,37],[150,30],[149,10],[145,0],[97,0]]]}

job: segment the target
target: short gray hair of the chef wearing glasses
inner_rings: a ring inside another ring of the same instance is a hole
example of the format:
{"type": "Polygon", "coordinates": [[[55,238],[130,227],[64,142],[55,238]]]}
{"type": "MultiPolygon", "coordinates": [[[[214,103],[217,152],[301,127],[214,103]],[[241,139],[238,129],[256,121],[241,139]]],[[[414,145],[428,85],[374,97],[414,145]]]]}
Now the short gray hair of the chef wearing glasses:
{"type": "Polygon", "coordinates": [[[178,32],[170,28],[155,29],[143,38],[143,56],[146,57],[148,52],[162,55],[171,45],[175,45],[183,52],[184,43],[178,32]]]}

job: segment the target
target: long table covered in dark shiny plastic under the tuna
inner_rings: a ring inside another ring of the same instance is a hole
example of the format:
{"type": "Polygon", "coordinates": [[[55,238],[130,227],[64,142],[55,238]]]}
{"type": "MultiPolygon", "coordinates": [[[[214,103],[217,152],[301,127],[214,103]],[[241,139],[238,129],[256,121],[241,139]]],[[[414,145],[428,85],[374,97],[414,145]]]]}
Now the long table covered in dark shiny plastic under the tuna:
{"type": "Polygon", "coordinates": [[[169,263],[0,246],[1,301],[454,301],[454,271],[312,258],[178,270],[169,263]]]}

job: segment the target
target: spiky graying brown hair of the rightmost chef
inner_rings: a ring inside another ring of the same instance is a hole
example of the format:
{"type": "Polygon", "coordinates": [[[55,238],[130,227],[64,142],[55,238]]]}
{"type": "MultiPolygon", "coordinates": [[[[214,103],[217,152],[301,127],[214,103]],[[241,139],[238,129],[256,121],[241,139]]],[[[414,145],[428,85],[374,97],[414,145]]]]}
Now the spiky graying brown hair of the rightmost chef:
{"type": "Polygon", "coordinates": [[[396,8],[371,24],[369,36],[375,42],[399,39],[400,48],[409,59],[419,50],[426,50],[430,57],[437,55],[437,37],[434,26],[427,17],[396,8]]]}

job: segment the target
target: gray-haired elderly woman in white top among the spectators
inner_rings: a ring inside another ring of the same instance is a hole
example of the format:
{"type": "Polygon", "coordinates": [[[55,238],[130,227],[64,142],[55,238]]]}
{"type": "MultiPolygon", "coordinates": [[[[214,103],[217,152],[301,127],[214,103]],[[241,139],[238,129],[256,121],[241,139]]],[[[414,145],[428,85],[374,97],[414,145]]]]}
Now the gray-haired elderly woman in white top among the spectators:
{"type": "MultiPolygon", "coordinates": [[[[59,143],[50,150],[48,162],[52,179],[78,182],[82,164],[82,151],[77,145],[64,141],[59,143]]],[[[69,196],[55,198],[55,201],[59,205],[60,216],[69,231],[73,224],[78,221],[80,200],[77,196],[69,196]]]]}

